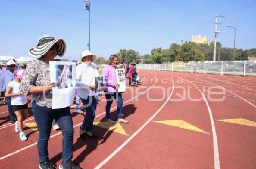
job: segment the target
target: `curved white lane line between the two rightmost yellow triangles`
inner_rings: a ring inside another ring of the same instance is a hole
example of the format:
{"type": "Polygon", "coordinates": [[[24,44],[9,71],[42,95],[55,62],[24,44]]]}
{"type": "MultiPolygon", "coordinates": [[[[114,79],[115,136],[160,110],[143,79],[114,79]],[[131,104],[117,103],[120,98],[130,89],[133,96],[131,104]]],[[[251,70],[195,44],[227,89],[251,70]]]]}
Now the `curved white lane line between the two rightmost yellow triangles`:
{"type": "MultiPolygon", "coordinates": [[[[185,78],[183,78],[183,79],[185,79],[185,78]]],[[[188,81],[189,83],[191,83],[193,86],[195,86],[198,89],[198,91],[201,93],[202,97],[204,98],[204,101],[205,101],[205,104],[207,106],[208,113],[210,116],[210,120],[211,120],[211,130],[212,130],[213,148],[214,148],[214,168],[219,169],[220,168],[219,148],[218,148],[218,141],[217,141],[217,134],[216,134],[216,129],[215,129],[215,125],[214,125],[214,120],[213,120],[212,113],[211,113],[211,108],[208,104],[207,99],[205,98],[204,94],[202,93],[202,91],[194,83],[190,82],[187,79],[185,79],[185,80],[188,81]]]]}

